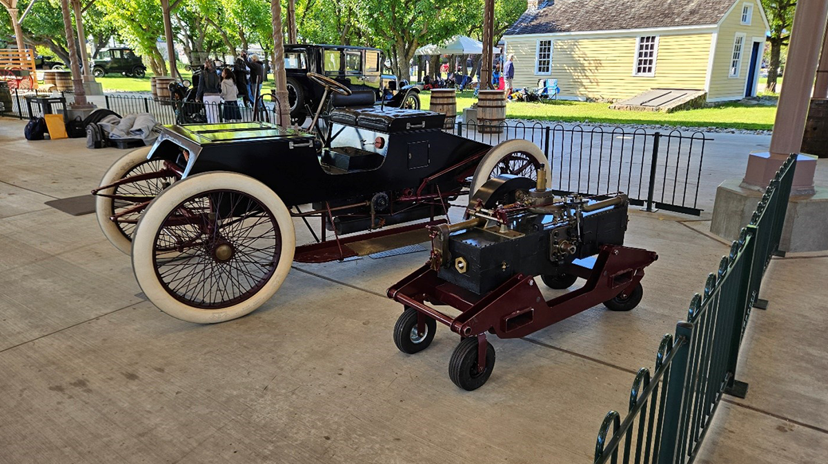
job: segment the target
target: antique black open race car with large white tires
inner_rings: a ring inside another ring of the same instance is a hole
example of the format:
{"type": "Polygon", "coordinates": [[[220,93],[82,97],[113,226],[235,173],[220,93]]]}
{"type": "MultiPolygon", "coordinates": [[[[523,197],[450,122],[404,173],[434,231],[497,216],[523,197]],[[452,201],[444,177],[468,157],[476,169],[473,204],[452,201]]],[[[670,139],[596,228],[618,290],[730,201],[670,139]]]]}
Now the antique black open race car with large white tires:
{"type": "Polygon", "coordinates": [[[445,222],[469,178],[474,186],[501,173],[537,177],[544,162],[530,142],[493,148],[443,132],[440,113],[373,106],[371,92],[310,77],[337,93],[325,131],[165,127],[93,191],[101,229],[131,252],[138,284],[164,312],[195,323],[238,318],[271,298],[292,261],[425,242],[425,226],[445,222]],[[294,219],[314,242],[296,246],[294,219]]]}

